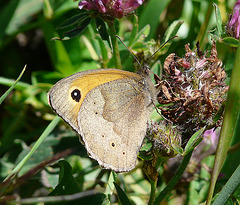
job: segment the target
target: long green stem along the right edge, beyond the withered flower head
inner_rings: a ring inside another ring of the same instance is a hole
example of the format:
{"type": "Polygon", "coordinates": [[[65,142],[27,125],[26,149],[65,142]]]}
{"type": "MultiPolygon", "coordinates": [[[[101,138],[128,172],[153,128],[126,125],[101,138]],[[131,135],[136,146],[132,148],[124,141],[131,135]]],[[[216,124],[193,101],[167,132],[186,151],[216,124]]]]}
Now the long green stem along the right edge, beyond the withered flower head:
{"type": "MultiPolygon", "coordinates": [[[[239,41],[240,42],[240,41],[239,41]]],[[[232,136],[238,136],[240,131],[236,129],[238,116],[240,113],[240,43],[238,44],[237,54],[231,75],[230,87],[228,90],[227,104],[224,112],[223,124],[219,136],[217,151],[213,165],[212,177],[209,185],[206,205],[210,205],[214,193],[215,184],[227,156],[232,136]]]]}

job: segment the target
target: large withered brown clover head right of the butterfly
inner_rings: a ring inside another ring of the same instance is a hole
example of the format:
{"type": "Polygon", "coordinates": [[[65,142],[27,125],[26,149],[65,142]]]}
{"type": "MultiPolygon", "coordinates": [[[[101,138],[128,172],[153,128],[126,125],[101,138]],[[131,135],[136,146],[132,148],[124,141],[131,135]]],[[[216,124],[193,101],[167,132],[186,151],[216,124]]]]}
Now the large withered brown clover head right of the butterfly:
{"type": "Polygon", "coordinates": [[[185,46],[184,58],[170,54],[164,62],[165,80],[160,84],[158,102],[164,117],[179,125],[186,135],[209,125],[226,99],[228,86],[215,42],[209,57],[198,44],[196,51],[185,46]]]}

